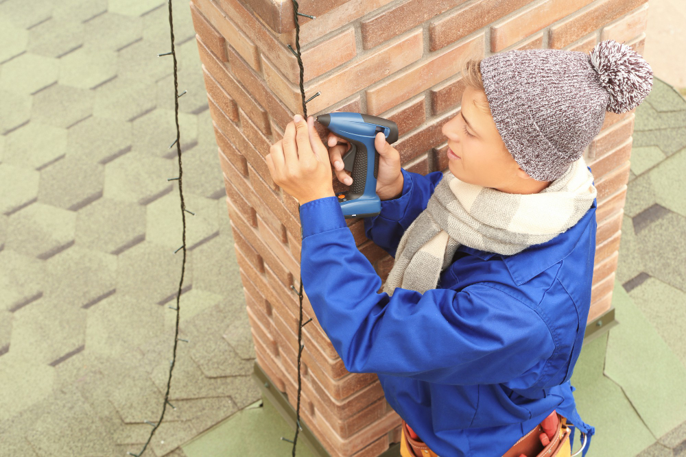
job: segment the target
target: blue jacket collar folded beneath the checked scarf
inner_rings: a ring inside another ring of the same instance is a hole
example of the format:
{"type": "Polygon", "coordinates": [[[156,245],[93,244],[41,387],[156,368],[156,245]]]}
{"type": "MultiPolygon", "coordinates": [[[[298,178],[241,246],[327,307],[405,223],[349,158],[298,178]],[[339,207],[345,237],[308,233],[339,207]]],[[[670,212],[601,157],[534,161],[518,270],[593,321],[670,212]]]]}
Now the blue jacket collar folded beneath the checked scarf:
{"type": "Polygon", "coordinates": [[[465,245],[460,245],[458,251],[464,251],[482,260],[489,260],[493,256],[501,256],[503,262],[508,267],[512,280],[514,280],[517,286],[521,286],[521,284],[532,279],[532,277],[541,274],[542,271],[549,269],[557,262],[560,262],[560,260],[569,256],[574,247],[576,247],[579,238],[581,238],[589,224],[593,221],[595,208],[597,207],[598,202],[596,199],[593,199],[591,208],[575,225],[569,227],[567,232],[559,234],[545,243],[532,245],[512,256],[482,251],[465,245]]]}

